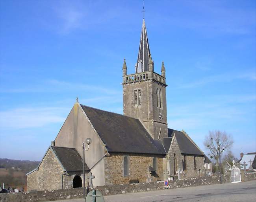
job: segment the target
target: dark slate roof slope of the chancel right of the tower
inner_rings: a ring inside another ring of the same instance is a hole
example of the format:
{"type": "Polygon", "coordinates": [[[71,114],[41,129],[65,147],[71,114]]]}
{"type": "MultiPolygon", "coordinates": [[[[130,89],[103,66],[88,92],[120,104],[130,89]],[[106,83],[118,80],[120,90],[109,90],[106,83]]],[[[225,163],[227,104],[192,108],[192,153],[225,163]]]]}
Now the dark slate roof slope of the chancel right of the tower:
{"type": "Polygon", "coordinates": [[[191,140],[181,131],[168,129],[168,136],[173,137],[175,133],[176,140],[178,141],[180,152],[182,154],[193,154],[204,156],[204,154],[192,143],[191,140]]]}

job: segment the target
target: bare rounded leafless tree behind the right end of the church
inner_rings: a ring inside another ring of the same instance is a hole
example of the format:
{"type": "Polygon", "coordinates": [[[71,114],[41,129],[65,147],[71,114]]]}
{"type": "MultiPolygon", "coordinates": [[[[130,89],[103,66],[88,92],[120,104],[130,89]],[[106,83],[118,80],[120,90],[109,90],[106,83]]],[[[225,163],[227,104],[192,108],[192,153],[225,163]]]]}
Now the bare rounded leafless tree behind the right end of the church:
{"type": "Polygon", "coordinates": [[[204,146],[209,150],[210,158],[214,158],[216,162],[219,160],[219,155],[223,151],[229,151],[233,143],[232,136],[226,134],[225,131],[209,131],[209,134],[204,138],[204,146]]]}

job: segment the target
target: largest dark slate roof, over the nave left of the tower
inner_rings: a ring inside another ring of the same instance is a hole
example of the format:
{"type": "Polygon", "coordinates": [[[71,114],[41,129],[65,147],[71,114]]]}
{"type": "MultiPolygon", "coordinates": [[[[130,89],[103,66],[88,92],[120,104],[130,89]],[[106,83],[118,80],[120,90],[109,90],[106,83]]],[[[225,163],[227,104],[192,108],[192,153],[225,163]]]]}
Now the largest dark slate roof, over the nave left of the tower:
{"type": "Polygon", "coordinates": [[[109,152],[166,155],[139,119],[81,105],[109,152]]]}

